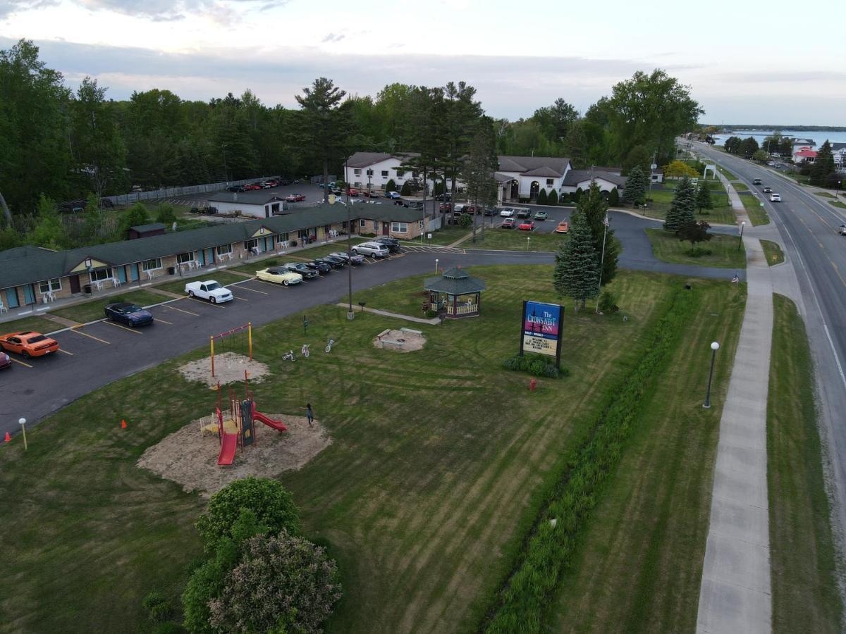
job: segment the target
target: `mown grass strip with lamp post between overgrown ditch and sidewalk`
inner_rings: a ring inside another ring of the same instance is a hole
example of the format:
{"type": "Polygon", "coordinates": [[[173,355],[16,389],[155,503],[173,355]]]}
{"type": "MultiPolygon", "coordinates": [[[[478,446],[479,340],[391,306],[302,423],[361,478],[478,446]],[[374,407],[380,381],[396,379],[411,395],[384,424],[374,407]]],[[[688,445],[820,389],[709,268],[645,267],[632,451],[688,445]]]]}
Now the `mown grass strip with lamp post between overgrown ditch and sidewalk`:
{"type": "Polygon", "coordinates": [[[708,308],[680,337],[678,371],[647,397],[544,631],[695,631],[720,408],[745,301],[743,285],[697,281],[695,292],[708,308]],[[706,410],[711,341],[721,348],[706,410]]]}

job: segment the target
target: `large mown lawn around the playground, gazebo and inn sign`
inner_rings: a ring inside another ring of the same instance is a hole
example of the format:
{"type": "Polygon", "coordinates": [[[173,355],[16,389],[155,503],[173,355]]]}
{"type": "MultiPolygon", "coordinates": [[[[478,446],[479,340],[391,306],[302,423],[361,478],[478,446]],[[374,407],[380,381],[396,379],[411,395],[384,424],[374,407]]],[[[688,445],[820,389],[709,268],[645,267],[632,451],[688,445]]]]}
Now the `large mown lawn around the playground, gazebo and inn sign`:
{"type": "MultiPolygon", "coordinates": [[[[342,571],[346,596],[328,631],[474,629],[536,518],[532,492],[585,440],[603,387],[634,366],[639,334],[684,281],[621,271],[613,290],[625,322],[568,309],[564,363],[573,374],[541,380],[533,393],[528,376],[500,363],[517,348],[523,298],[554,301],[552,267],[470,273],[487,283],[481,317],[415,325],[429,339],[418,353],[372,346],[377,333],[406,322],[376,314],[348,321],[335,306],[308,313],[311,342],[336,340],[329,355],[279,360],[303,342],[301,314],[254,331],[256,358],[272,373],[251,385],[262,409],[300,414],[312,402],[333,439],[299,472],[279,476],[305,533],[327,544],[342,571]]],[[[424,277],[355,301],[419,310],[424,277]]],[[[145,631],[141,598],[157,589],[176,601],[200,553],[192,524],[204,502],[135,461],[214,407],[211,391],[176,372],[205,354],[107,385],[31,429],[26,454],[14,442],[3,450],[0,524],[15,543],[0,597],[10,630],[145,631]]]]}

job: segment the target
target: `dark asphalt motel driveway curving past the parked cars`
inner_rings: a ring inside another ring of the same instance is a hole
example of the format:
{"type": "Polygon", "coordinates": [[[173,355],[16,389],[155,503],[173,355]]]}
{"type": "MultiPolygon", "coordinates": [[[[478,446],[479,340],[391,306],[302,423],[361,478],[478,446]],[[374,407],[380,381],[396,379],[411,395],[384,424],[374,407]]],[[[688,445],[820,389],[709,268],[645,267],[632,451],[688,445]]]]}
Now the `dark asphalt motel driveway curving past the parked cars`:
{"type": "MultiPolygon", "coordinates": [[[[569,217],[569,210],[555,210],[569,217]]],[[[731,279],[729,269],[669,265],[652,254],[644,227],[651,221],[626,214],[613,215],[614,227],[624,243],[620,265],[641,271],[660,271],[681,276],[731,279]]],[[[657,223],[654,223],[657,226],[657,223]]],[[[386,281],[434,271],[439,265],[551,264],[552,254],[519,251],[433,249],[412,247],[402,257],[361,265],[353,270],[353,290],[386,281]]],[[[16,365],[0,376],[0,435],[19,431],[18,418],[30,423],[55,412],[102,385],[135,374],[179,354],[208,344],[209,336],[251,321],[263,325],[288,314],[323,303],[343,301],[348,288],[346,270],[334,271],[300,287],[277,287],[250,280],[233,286],[238,299],[214,306],[184,298],[157,306],[157,324],[129,331],[109,322],[98,322],[55,336],[65,353],[33,359],[32,368],[16,365]]]]}

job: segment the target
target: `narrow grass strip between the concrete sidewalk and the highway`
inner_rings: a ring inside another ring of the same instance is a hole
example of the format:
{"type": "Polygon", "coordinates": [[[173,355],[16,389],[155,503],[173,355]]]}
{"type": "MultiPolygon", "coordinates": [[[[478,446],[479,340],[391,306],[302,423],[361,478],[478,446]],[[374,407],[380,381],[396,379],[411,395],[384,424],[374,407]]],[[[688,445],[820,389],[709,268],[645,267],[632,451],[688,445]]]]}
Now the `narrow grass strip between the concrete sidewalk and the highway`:
{"type": "Polygon", "coordinates": [[[772,631],[843,631],[805,324],[775,295],[766,407],[772,631]]]}

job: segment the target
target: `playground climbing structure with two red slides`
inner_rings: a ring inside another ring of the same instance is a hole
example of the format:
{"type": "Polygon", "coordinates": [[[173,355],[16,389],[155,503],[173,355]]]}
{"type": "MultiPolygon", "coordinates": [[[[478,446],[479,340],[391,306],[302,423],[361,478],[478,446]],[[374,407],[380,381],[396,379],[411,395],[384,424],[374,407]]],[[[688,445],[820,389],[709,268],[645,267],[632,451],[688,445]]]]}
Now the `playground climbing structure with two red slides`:
{"type": "Polygon", "coordinates": [[[250,394],[248,374],[244,371],[244,398],[235,396],[232,389],[228,390],[228,407],[224,409],[222,403],[221,386],[217,385],[217,406],[214,420],[201,424],[201,435],[217,433],[220,441],[220,452],[217,456],[218,465],[230,465],[235,459],[235,453],[240,448],[249,447],[255,443],[255,422],[266,424],[279,432],[288,431],[288,427],[281,421],[270,418],[255,408],[255,399],[250,394]]]}

